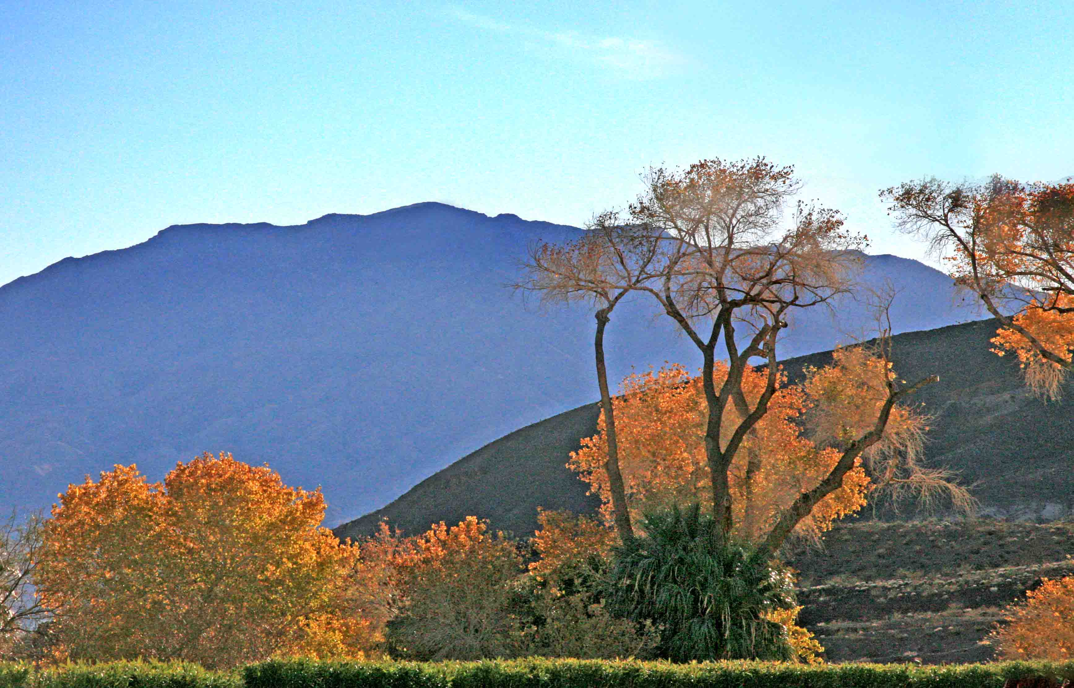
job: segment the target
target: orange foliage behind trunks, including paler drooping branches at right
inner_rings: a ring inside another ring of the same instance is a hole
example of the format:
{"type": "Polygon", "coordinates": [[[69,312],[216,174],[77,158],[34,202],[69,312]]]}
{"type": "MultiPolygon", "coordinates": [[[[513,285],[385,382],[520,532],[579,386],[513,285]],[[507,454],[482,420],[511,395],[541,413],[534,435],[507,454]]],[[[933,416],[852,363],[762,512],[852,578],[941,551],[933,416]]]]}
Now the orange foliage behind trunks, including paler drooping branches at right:
{"type": "MultiPolygon", "coordinates": [[[[883,390],[869,389],[871,381],[883,378],[882,371],[874,370],[883,364],[881,358],[860,347],[840,348],[832,364],[809,370],[802,385],[787,385],[783,375],[779,376],[768,413],[731,463],[732,535],[751,542],[761,540],[800,493],[831,472],[840,458],[833,446],[839,438],[860,434],[883,403],[883,390]]],[[[727,364],[717,361],[713,374],[716,385],[721,384],[727,364]]],[[[765,371],[744,371],[742,388],[748,402],[755,403],[766,378],[765,371]]],[[[707,414],[700,377],[691,377],[678,364],[630,375],[614,403],[633,516],[673,504],[705,502],[711,478],[703,444],[707,414]]],[[[730,426],[740,418],[732,411],[724,421],[730,426]]],[[[855,463],[838,489],[798,521],[795,532],[816,539],[836,519],[860,510],[870,492],[879,496],[877,490],[904,490],[908,485],[919,498],[928,500],[944,492],[956,506],[970,507],[971,498],[952,475],[920,464],[926,422],[927,417],[914,407],[892,408],[882,441],[863,453],[865,461],[855,463]]],[[[605,427],[598,420],[597,434],[582,440],[582,448],[571,453],[568,465],[600,497],[607,521],[610,500],[600,470],[604,443],[605,427]]]]}

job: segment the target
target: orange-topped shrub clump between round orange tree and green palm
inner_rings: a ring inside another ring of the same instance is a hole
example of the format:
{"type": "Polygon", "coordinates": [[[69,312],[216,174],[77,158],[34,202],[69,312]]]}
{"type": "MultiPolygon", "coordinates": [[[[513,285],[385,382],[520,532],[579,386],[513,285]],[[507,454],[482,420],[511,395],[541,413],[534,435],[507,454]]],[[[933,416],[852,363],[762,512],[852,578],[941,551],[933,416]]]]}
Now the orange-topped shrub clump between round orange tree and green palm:
{"type": "Polygon", "coordinates": [[[600,600],[614,533],[565,512],[538,519],[529,571],[518,543],[473,516],[409,538],[382,522],[358,543],[355,614],[397,659],[647,656],[655,635],[600,600]]]}

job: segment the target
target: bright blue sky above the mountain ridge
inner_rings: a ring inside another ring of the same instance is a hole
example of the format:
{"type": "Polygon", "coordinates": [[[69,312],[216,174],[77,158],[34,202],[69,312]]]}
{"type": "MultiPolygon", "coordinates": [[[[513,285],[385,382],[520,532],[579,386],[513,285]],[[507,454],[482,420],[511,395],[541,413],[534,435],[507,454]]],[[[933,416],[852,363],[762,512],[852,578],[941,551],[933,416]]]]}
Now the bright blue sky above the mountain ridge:
{"type": "Polygon", "coordinates": [[[0,0],[0,284],[172,224],[435,200],[578,225],[765,155],[876,189],[1074,174],[1074,3],[0,0]]]}

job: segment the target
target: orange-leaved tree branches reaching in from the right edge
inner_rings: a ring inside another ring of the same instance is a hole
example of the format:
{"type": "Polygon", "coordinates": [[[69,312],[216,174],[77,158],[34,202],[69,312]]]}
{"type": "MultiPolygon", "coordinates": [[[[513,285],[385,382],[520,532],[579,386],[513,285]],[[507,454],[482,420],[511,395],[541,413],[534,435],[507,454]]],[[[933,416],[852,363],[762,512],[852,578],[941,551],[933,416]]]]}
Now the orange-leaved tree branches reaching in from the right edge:
{"type": "Polygon", "coordinates": [[[993,350],[1016,354],[1029,387],[1058,399],[1074,354],[1074,184],[926,178],[881,198],[999,319],[993,350]]]}

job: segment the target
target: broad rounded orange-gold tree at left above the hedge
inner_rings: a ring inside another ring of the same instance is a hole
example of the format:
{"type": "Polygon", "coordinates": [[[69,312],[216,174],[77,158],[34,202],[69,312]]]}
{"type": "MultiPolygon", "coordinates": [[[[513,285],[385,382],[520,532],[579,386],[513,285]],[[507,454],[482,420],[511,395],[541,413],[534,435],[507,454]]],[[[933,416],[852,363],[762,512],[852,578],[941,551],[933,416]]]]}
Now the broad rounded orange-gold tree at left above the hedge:
{"type": "Polygon", "coordinates": [[[362,625],[343,613],[352,549],[323,515],[319,489],[230,454],[179,462],[163,484],[116,465],[70,485],[38,571],[61,654],[211,668],[357,655],[362,625]]]}

